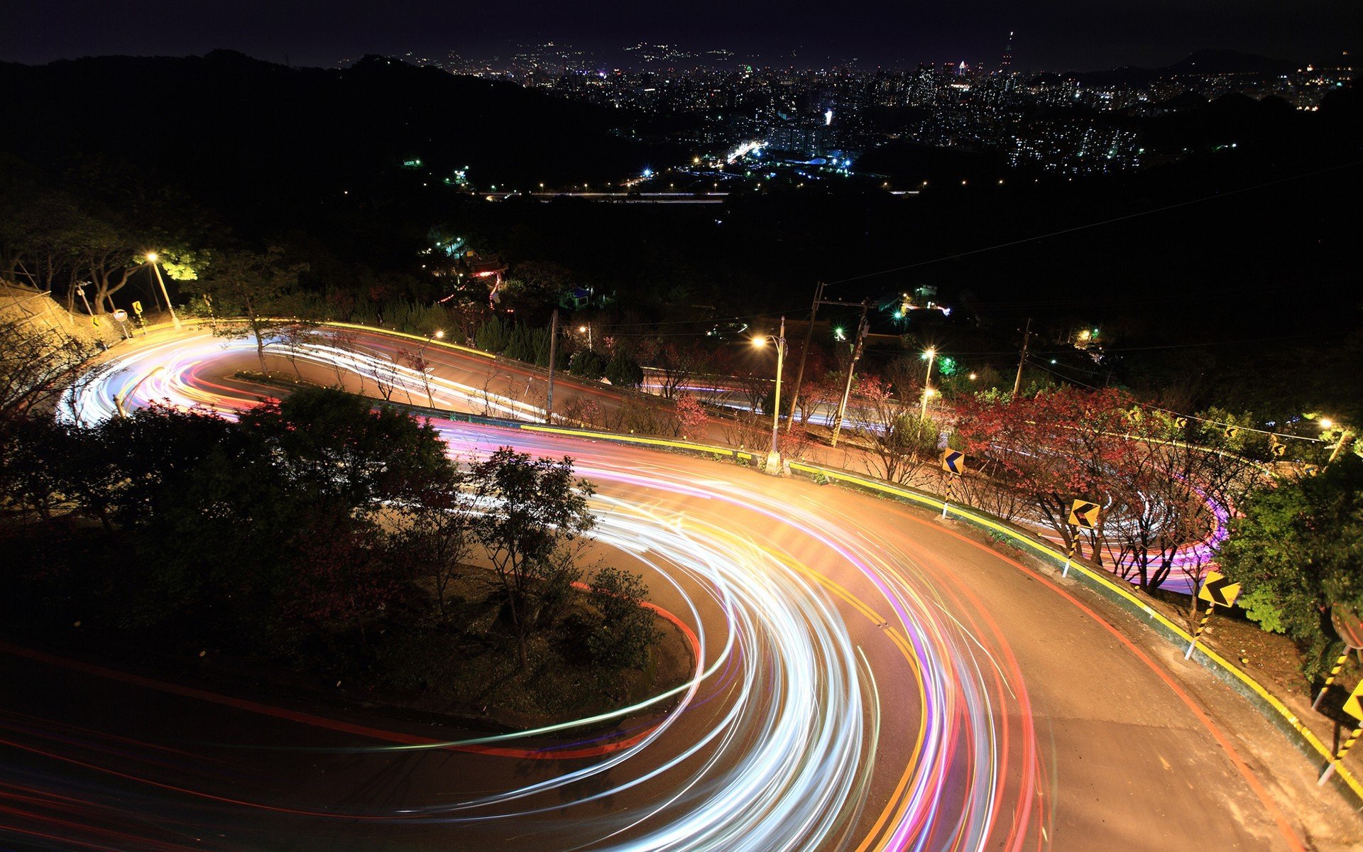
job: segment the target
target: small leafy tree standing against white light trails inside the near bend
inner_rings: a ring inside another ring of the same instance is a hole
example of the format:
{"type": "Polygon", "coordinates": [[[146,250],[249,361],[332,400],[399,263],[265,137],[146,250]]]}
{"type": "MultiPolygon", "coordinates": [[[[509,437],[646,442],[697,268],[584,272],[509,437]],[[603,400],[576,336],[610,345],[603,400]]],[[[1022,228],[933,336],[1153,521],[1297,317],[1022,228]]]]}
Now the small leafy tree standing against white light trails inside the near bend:
{"type": "Polygon", "coordinates": [[[577,579],[572,547],[596,525],[587,508],[592,484],[574,478],[572,459],[532,459],[497,448],[473,469],[478,503],[487,506],[474,536],[487,551],[504,594],[521,667],[527,641],[577,579]]]}

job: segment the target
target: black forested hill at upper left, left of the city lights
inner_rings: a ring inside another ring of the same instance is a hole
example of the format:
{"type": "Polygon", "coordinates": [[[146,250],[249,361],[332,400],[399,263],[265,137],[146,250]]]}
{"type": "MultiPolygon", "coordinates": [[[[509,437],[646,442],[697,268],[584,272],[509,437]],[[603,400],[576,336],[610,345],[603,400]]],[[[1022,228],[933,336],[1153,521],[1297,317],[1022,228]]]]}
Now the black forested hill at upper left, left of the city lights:
{"type": "Polygon", "coordinates": [[[408,159],[429,180],[470,166],[478,187],[616,180],[647,159],[600,108],[376,56],[343,70],[229,50],[0,64],[0,90],[18,117],[0,149],[40,168],[98,151],[225,210],[384,184],[408,159]]]}

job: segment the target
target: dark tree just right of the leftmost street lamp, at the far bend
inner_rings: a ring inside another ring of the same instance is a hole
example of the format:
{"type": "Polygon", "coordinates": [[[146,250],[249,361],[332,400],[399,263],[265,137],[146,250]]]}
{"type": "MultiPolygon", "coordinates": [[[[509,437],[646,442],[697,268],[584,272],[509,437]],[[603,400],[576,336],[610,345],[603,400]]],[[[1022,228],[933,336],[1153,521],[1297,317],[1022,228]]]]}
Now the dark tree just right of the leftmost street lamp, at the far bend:
{"type": "Polygon", "coordinates": [[[285,263],[284,249],[277,247],[264,254],[237,249],[214,256],[198,282],[213,305],[213,333],[229,338],[254,337],[264,375],[270,374],[264,361],[266,338],[288,324],[271,314],[286,312],[285,297],[307,269],[307,263],[285,263]],[[243,318],[243,322],[219,318],[243,318]]]}

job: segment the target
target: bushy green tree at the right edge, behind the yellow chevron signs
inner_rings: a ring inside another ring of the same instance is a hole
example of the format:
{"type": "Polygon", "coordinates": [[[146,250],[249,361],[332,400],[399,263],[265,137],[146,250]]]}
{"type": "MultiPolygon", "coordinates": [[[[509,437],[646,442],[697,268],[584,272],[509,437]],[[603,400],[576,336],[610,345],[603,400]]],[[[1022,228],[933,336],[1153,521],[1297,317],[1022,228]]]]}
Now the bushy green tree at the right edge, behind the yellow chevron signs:
{"type": "Polygon", "coordinates": [[[1303,668],[1314,675],[1333,643],[1330,609],[1363,609],[1363,459],[1255,488],[1240,508],[1221,568],[1243,585],[1251,620],[1308,648],[1303,668]]]}

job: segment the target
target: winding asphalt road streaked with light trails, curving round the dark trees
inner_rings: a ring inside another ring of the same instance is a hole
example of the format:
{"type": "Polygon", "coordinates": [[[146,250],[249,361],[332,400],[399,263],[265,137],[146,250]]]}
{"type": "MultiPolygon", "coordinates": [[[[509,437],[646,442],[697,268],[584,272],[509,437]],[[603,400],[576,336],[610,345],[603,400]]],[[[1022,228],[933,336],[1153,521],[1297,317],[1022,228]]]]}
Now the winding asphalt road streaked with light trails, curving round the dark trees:
{"type": "MultiPolygon", "coordinates": [[[[414,345],[360,337],[363,352],[298,369],[354,382],[364,359],[414,345]]],[[[483,356],[428,357],[436,406],[481,412],[483,356]]],[[[203,333],[153,334],[108,363],[68,414],[114,416],[116,397],[230,413],[269,393],[232,378],[255,363],[249,342],[203,333]]],[[[492,404],[514,408],[506,395],[492,404]]],[[[846,489],[433,423],[459,457],[575,459],[597,484],[601,555],[642,571],[694,634],[676,695],[487,736],[3,646],[0,847],[1307,848],[1273,758],[1216,718],[1238,699],[1050,570],[846,489]]]]}

